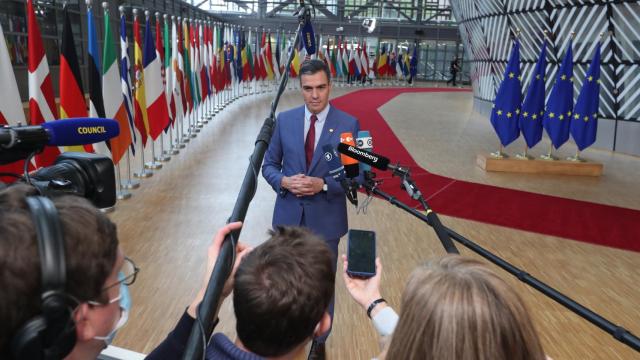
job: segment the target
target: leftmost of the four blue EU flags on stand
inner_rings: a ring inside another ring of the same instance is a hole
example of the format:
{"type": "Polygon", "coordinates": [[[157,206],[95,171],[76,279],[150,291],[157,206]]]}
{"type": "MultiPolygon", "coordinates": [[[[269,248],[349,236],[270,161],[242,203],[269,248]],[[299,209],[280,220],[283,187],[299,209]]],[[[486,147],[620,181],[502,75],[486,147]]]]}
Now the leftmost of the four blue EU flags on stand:
{"type": "Polygon", "coordinates": [[[493,103],[493,110],[491,110],[491,125],[498,134],[502,146],[511,144],[520,135],[518,114],[520,114],[521,103],[520,42],[516,40],[504,71],[504,79],[493,103]]]}

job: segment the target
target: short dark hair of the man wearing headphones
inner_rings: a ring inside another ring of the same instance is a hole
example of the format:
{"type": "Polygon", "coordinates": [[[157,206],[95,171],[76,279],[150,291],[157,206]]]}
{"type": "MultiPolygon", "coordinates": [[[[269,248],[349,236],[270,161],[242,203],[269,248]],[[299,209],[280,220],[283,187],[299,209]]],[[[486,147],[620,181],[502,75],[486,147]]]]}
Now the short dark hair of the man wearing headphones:
{"type": "MultiPolygon", "coordinates": [[[[10,340],[41,311],[41,268],[27,185],[0,190],[0,358],[9,358],[10,340]]],[[[65,243],[66,293],[80,302],[106,300],[104,282],[118,251],[116,226],[78,196],[53,199],[65,243]]]]}

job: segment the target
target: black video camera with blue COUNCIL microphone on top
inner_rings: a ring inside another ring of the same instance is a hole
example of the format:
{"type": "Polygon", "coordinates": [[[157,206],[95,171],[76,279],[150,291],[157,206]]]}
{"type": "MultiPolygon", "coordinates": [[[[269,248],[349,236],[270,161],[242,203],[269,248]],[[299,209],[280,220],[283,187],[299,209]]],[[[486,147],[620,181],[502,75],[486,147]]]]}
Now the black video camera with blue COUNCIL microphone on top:
{"type": "MultiPolygon", "coordinates": [[[[46,145],[92,144],[117,136],[119,131],[118,123],[111,119],[69,119],[39,126],[0,127],[0,165],[21,159],[30,161],[46,145]]],[[[116,203],[114,166],[105,155],[65,152],[53,165],[25,174],[19,181],[34,186],[47,197],[78,195],[98,208],[116,203]]]]}

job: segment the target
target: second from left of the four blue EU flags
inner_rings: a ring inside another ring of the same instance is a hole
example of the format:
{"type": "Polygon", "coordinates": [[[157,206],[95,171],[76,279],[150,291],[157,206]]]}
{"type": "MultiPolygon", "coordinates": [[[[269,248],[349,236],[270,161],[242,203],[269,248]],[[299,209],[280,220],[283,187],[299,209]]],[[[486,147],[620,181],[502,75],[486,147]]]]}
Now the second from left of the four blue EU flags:
{"type": "Polygon", "coordinates": [[[533,70],[531,83],[520,110],[520,131],[527,147],[534,147],[542,139],[542,116],[544,115],[544,74],[547,69],[547,41],[542,44],[540,57],[533,70]]]}

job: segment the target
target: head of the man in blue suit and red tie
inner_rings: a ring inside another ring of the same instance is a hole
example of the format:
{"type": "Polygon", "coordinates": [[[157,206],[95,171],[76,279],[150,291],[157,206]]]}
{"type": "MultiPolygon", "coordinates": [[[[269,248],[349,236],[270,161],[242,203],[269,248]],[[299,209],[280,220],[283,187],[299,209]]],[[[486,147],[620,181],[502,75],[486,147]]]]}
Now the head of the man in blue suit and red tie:
{"type": "Polygon", "coordinates": [[[322,60],[306,60],[300,66],[300,87],[307,109],[318,114],[329,104],[331,73],[322,60]]]}

